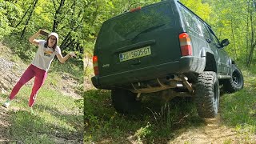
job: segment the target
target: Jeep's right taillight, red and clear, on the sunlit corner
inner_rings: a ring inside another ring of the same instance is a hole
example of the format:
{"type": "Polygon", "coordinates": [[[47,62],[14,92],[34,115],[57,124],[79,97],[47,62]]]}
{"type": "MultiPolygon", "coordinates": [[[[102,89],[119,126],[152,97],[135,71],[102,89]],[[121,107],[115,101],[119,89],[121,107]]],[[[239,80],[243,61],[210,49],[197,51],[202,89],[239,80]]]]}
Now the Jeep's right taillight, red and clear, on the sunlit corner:
{"type": "Polygon", "coordinates": [[[189,34],[179,34],[178,38],[182,50],[182,56],[192,55],[192,46],[189,34]]]}

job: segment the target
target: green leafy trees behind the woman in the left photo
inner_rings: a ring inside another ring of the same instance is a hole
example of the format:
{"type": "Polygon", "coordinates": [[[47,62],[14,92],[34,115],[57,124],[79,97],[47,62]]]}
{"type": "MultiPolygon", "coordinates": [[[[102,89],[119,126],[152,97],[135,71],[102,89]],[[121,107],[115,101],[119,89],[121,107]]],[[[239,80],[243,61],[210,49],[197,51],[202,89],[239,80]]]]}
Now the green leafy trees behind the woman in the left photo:
{"type": "MultiPolygon", "coordinates": [[[[64,0],[62,5],[56,0],[1,0],[0,38],[9,39],[14,35],[21,35],[22,38],[16,38],[24,45],[28,43],[27,39],[39,29],[54,30],[59,34],[58,45],[61,46],[64,54],[75,51],[78,55],[77,59],[82,62],[85,43],[90,42],[88,33],[85,34],[85,30],[87,30],[85,29],[86,10],[80,9],[80,7],[87,7],[86,2],[83,0],[73,2],[64,0]]],[[[90,4],[88,6],[90,7],[90,4]]],[[[15,49],[16,52],[19,51],[18,54],[21,58],[25,56],[23,59],[28,59],[27,54],[30,51],[24,50],[23,46],[15,47],[15,49]],[[26,51],[26,53],[21,54],[22,51],[26,51]]]]}

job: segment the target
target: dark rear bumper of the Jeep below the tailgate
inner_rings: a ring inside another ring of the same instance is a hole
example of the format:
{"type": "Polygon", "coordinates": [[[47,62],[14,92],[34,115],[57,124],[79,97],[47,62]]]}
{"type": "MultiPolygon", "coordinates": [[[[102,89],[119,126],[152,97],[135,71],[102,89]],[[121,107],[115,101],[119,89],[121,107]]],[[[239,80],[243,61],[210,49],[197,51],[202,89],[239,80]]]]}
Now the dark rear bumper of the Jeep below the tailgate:
{"type": "Polygon", "coordinates": [[[182,57],[175,62],[129,70],[118,74],[94,76],[91,81],[98,89],[113,89],[131,82],[142,82],[149,79],[161,78],[167,74],[182,74],[188,72],[201,73],[206,65],[205,58],[182,57]]]}

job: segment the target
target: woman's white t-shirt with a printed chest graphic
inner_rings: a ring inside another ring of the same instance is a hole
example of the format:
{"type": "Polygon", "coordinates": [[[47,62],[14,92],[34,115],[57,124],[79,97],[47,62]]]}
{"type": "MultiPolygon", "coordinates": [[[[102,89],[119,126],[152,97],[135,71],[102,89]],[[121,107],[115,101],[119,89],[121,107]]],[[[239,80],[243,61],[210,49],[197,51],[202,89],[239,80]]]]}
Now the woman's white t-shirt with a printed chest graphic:
{"type": "Polygon", "coordinates": [[[61,54],[61,49],[56,46],[56,49],[52,49],[49,47],[44,47],[46,41],[39,40],[38,51],[32,61],[32,65],[38,67],[39,69],[46,70],[46,72],[50,68],[50,64],[54,59],[56,54],[61,54]]]}

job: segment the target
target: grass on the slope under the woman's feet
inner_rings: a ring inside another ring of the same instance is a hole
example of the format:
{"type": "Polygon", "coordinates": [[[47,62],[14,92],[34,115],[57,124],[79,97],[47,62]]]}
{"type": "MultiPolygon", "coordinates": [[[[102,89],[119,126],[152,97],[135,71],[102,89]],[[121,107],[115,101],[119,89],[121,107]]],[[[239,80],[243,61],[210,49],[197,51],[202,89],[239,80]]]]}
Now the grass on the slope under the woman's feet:
{"type": "Polygon", "coordinates": [[[10,109],[12,140],[25,143],[54,143],[56,138],[82,140],[83,115],[74,98],[42,87],[30,113],[28,98],[31,86],[19,91],[10,109]],[[15,107],[18,110],[15,110],[15,107]]]}

